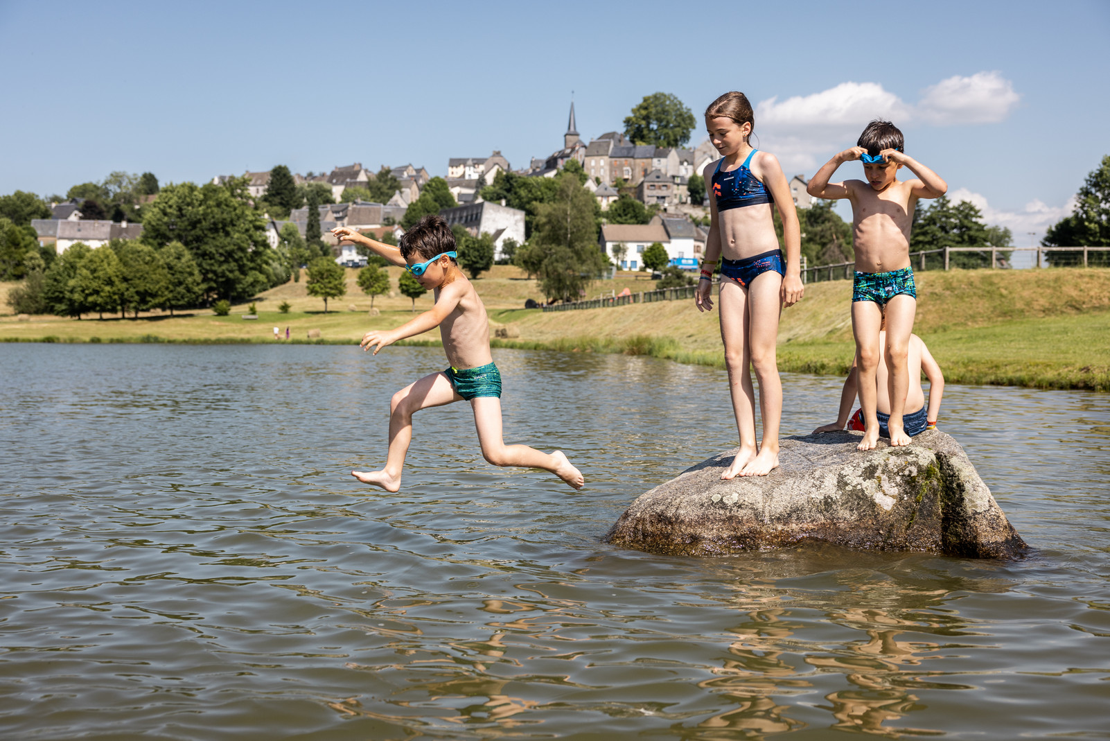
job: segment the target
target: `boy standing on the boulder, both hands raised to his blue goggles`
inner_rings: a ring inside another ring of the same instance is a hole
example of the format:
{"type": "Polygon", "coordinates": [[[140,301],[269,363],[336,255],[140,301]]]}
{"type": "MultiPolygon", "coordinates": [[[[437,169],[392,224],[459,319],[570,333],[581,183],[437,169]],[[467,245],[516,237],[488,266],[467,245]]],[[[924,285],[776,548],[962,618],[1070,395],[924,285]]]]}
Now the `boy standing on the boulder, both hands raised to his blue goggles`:
{"type": "Polygon", "coordinates": [[[876,417],[879,364],[879,324],[887,312],[886,361],[890,369],[887,392],[891,445],[908,445],[902,420],[909,391],[907,352],[917,311],[917,289],[909,267],[909,230],[920,198],[940,198],[948,183],[929,168],[906,154],[901,131],[889,121],[871,121],[857,146],[826,162],[806,190],[816,198],[847,198],[851,201],[852,246],[856,279],[851,296],[851,330],[856,338],[859,402],[866,430],[860,450],[871,450],[879,440],[876,417]],[[829,182],[836,169],[851,160],[864,161],[867,181],[829,182]],[[902,166],[917,176],[899,181],[902,166]]]}

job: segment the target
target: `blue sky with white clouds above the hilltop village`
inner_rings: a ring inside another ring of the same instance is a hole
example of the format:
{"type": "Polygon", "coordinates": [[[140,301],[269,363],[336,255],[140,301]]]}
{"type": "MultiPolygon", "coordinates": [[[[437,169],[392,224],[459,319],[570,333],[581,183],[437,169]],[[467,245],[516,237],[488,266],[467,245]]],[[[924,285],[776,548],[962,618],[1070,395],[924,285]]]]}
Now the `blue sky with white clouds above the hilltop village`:
{"type": "MultiPolygon", "coordinates": [[[[444,174],[741,90],[807,177],[889,116],[1018,246],[1110,154],[1110,2],[0,2],[0,193],[360,161],[444,174]]],[[[700,117],[699,117],[700,120],[700,117]]],[[[704,137],[699,126],[692,138],[704,137]]],[[[852,166],[844,177],[858,177],[852,166]]]]}

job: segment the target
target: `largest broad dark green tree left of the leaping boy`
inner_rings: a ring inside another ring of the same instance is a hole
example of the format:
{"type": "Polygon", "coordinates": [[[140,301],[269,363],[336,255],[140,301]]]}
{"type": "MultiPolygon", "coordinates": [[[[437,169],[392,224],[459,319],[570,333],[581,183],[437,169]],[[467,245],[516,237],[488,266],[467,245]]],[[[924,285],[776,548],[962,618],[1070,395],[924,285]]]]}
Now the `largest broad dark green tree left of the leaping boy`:
{"type": "Polygon", "coordinates": [[[275,256],[262,217],[248,200],[245,178],[162,188],[145,209],[142,241],[155,249],[184,244],[201,272],[205,299],[249,298],[274,278],[270,266],[275,256]]]}

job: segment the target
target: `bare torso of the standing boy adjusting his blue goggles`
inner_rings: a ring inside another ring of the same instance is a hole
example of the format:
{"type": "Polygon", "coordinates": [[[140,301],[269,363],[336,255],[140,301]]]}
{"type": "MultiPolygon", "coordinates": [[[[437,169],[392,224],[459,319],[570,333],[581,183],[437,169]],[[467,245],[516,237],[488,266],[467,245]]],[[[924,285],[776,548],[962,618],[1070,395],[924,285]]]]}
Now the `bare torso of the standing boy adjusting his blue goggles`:
{"type": "Polygon", "coordinates": [[[856,270],[888,272],[909,267],[909,230],[917,197],[909,182],[895,181],[877,192],[862,180],[848,180],[852,206],[856,270]]]}

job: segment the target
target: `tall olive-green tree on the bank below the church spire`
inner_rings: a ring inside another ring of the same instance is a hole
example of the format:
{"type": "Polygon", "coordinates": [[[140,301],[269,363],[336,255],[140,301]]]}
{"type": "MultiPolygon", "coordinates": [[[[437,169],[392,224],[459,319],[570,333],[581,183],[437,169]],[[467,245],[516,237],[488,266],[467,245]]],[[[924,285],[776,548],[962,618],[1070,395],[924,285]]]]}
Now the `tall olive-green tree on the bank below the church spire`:
{"type": "Polygon", "coordinates": [[[556,180],[555,199],[536,207],[531,243],[544,252],[537,271],[544,293],[576,300],[608,260],[597,247],[597,200],[573,172],[556,180]]]}

